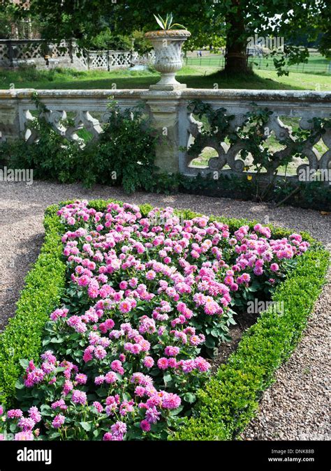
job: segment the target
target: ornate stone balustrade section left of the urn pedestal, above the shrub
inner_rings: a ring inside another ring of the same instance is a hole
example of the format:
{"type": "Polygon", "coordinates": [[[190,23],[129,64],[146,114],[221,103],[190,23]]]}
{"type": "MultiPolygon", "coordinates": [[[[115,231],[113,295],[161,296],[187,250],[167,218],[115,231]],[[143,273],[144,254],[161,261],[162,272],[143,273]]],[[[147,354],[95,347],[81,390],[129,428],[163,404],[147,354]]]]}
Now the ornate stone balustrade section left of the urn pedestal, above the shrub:
{"type": "MultiPolygon", "coordinates": [[[[38,140],[31,126],[36,110],[34,92],[33,89],[0,91],[2,140],[23,137],[27,144],[38,140]]],[[[135,107],[140,102],[140,90],[39,90],[38,99],[47,107],[46,119],[54,130],[69,140],[76,140],[78,130],[82,129],[97,138],[108,121],[110,102],[116,101],[122,110],[135,107]],[[66,121],[70,125],[66,126],[66,121]]]]}

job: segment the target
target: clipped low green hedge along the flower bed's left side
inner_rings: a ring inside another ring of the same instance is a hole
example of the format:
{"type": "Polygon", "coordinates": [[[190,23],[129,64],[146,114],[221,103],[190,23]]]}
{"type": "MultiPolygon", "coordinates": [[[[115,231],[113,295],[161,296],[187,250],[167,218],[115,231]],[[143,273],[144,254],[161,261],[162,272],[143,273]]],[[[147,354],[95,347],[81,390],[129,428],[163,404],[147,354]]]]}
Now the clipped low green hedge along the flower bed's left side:
{"type": "Polygon", "coordinates": [[[0,337],[0,403],[13,402],[15,382],[22,375],[20,359],[38,360],[45,322],[61,299],[66,265],[61,259],[61,230],[57,206],[45,212],[45,241],[41,253],[25,278],[24,290],[14,317],[0,337]]]}

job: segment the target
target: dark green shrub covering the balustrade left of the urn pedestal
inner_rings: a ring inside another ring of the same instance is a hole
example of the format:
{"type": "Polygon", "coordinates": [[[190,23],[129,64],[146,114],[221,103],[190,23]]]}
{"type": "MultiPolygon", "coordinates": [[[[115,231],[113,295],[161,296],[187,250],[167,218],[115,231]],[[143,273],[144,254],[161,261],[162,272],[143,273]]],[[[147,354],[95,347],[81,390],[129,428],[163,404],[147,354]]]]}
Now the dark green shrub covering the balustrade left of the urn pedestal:
{"type": "MultiPolygon", "coordinates": [[[[140,107],[121,112],[114,105],[98,140],[82,130],[80,141],[72,141],[52,128],[45,118],[48,110],[38,95],[34,100],[38,117],[30,127],[38,141],[29,145],[24,140],[5,142],[0,145],[0,160],[9,160],[12,168],[34,169],[36,179],[82,181],[88,188],[95,184],[122,185],[126,193],[132,193],[152,186],[156,137],[140,107]]],[[[73,126],[72,119],[65,121],[66,127],[73,126]]]]}

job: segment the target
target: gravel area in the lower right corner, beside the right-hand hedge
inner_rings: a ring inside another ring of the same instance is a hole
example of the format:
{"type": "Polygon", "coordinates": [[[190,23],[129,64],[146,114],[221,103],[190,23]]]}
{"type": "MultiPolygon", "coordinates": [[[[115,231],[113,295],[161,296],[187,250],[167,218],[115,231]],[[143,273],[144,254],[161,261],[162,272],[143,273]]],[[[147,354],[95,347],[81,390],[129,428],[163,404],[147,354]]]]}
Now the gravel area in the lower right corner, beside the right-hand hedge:
{"type": "Polygon", "coordinates": [[[330,440],[331,271],[328,282],[302,341],[265,391],[244,440],[330,440]]]}

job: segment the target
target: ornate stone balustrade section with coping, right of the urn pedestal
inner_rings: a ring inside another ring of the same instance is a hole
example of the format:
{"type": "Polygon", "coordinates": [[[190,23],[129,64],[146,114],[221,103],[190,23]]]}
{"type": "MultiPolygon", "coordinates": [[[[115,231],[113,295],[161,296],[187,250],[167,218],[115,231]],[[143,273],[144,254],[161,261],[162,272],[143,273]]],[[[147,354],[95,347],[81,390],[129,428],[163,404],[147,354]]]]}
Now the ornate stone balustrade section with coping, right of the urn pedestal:
{"type": "Polygon", "coordinates": [[[229,135],[243,126],[248,113],[265,109],[270,114],[258,133],[263,136],[262,147],[272,151],[272,165],[269,171],[265,170],[266,175],[275,170],[279,175],[286,171],[288,177],[296,179],[306,169],[331,170],[331,126],[325,128],[323,135],[316,133],[311,139],[315,134],[313,118],[331,120],[331,92],[186,89],[180,94],[180,102],[179,148],[190,147],[194,140],[198,140],[198,149],[193,156],[187,151],[179,151],[181,173],[254,173],[253,156],[241,156],[246,148],[245,140],[239,138],[236,142],[229,142],[229,135]],[[213,110],[223,108],[224,117],[233,116],[228,129],[202,137],[203,124],[188,109],[193,100],[201,100],[211,105],[213,110]],[[300,144],[295,136],[298,130],[311,131],[311,135],[300,144]],[[300,158],[293,156],[299,147],[300,158]],[[209,160],[203,159],[206,149],[205,155],[210,157],[209,160]],[[290,163],[285,170],[283,162],[286,158],[290,163]]]}

